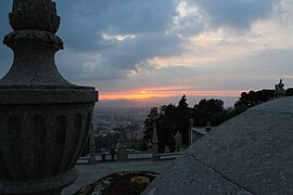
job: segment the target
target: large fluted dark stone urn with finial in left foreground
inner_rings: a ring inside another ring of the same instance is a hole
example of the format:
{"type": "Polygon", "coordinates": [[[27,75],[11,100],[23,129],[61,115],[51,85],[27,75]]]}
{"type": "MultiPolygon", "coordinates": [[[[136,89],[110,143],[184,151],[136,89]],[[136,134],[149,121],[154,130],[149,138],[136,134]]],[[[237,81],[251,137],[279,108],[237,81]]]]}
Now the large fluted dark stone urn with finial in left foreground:
{"type": "MultiPolygon", "coordinates": [[[[98,92],[65,80],[54,54],[63,49],[51,0],[14,0],[13,50],[0,80],[0,194],[61,194],[78,177],[98,92]]],[[[68,56],[69,57],[69,56],[68,56]]]]}

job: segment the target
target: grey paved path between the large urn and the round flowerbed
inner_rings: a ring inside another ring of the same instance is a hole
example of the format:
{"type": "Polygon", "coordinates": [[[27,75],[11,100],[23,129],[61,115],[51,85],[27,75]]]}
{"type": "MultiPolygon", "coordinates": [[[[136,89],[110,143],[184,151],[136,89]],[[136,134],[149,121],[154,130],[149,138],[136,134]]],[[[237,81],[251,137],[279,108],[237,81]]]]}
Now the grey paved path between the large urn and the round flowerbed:
{"type": "Polygon", "coordinates": [[[162,172],[173,160],[143,160],[128,162],[98,162],[95,165],[78,165],[79,178],[74,184],[64,188],[62,195],[73,195],[81,186],[90,184],[107,174],[119,171],[154,171],[162,172]]]}

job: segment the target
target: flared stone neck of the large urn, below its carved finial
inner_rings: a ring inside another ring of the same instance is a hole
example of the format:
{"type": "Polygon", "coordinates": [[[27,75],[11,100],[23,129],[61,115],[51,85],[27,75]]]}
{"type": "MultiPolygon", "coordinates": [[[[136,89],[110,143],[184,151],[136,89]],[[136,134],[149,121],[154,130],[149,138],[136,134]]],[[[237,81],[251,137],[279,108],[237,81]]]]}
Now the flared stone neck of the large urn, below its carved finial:
{"type": "MultiPolygon", "coordinates": [[[[47,37],[44,31],[22,30],[17,35],[39,34],[47,37]]],[[[51,34],[52,37],[55,37],[51,34]]],[[[13,50],[14,60],[9,73],[0,80],[1,88],[5,86],[66,86],[74,87],[65,80],[58,72],[54,55],[60,50],[60,44],[55,40],[39,39],[34,37],[16,38],[12,37],[5,41],[7,46],[13,50]]],[[[18,88],[18,87],[17,87],[18,88]]],[[[30,87],[31,88],[31,87],[30,87]]]]}

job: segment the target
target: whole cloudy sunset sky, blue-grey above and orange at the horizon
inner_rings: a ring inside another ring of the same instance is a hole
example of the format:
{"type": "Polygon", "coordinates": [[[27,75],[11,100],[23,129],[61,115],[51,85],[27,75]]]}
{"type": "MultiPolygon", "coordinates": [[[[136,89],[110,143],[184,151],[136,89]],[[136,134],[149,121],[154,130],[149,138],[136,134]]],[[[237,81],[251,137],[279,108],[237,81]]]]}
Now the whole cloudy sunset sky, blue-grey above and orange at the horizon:
{"type": "MultiPolygon", "coordinates": [[[[0,36],[11,31],[1,0],[0,36]]],[[[293,87],[292,0],[56,0],[58,68],[101,99],[293,87]]],[[[12,52],[0,46],[1,77],[12,52]]]]}

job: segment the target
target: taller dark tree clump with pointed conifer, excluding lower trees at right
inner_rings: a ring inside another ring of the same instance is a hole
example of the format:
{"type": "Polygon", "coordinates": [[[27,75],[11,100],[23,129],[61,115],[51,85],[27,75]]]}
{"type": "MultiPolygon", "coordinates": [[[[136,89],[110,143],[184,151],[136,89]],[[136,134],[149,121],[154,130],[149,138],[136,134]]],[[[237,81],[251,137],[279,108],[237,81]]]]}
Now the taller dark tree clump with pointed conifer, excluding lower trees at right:
{"type": "Polygon", "coordinates": [[[174,152],[174,135],[178,131],[182,134],[182,144],[188,145],[191,118],[195,119],[196,126],[206,126],[207,121],[212,119],[211,116],[213,116],[212,121],[219,125],[225,120],[224,118],[226,116],[226,113],[221,112],[224,112],[224,102],[221,100],[204,99],[201,100],[199,104],[195,104],[193,108],[190,108],[187,103],[187,98],[183,95],[178,106],[169,104],[163,105],[160,108],[151,108],[144,120],[144,138],[146,140],[152,139],[153,128],[156,126],[158,152],[164,153],[165,146],[168,146],[170,152],[174,152]],[[221,113],[221,115],[219,113],[221,113]]]}

